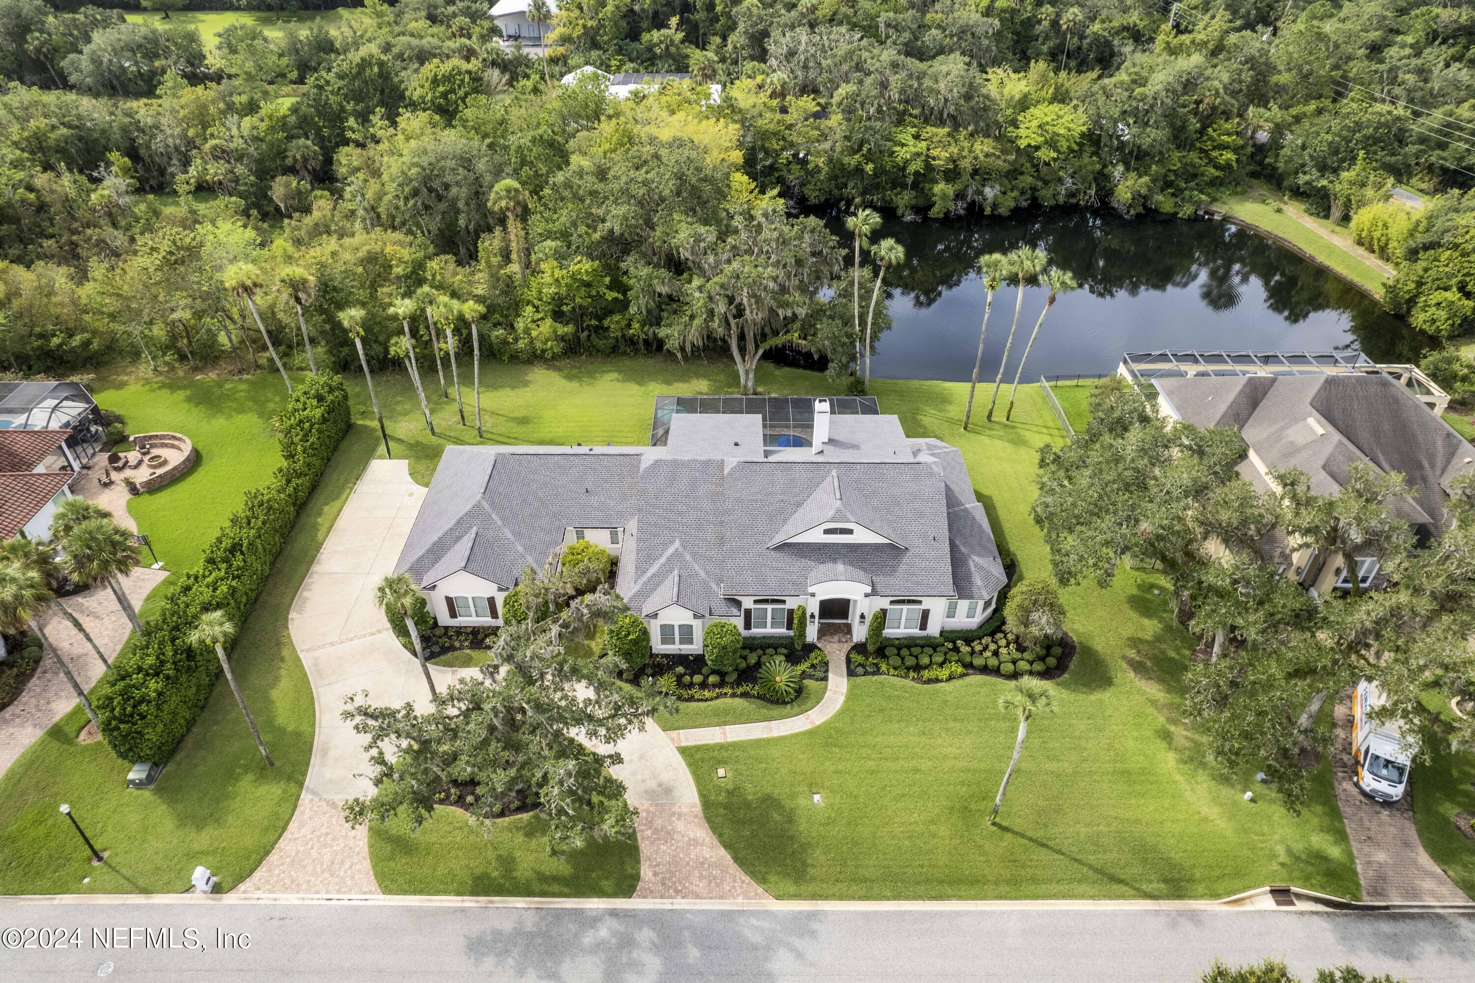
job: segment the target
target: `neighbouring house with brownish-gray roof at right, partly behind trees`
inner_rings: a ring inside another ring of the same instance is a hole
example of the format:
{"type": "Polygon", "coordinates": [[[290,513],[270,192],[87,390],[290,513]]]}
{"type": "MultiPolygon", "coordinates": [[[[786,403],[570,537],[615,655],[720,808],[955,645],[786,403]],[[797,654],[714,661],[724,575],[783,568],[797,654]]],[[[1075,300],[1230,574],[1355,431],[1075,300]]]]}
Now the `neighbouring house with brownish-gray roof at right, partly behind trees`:
{"type": "MultiPolygon", "coordinates": [[[[1158,409],[1199,427],[1235,427],[1245,441],[1239,474],[1257,490],[1276,489],[1274,472],[1298,468],[1311,492],[1336,494],[1356,463],[1400,472],[1409,496],[1394,502],[1420,540],[1443,534],[1451,481],[1475,471],[1475,446],[1384,373],[1189,375],[1158,378],[1158,409]]],[[[1339,556],[1317,556],[1283,533],[1261,543],[1304,586],[1350,589],[1339,556]]],[[[1375,558],[1357,558],[1363,586],[1376,586],[1375,558]]]]}

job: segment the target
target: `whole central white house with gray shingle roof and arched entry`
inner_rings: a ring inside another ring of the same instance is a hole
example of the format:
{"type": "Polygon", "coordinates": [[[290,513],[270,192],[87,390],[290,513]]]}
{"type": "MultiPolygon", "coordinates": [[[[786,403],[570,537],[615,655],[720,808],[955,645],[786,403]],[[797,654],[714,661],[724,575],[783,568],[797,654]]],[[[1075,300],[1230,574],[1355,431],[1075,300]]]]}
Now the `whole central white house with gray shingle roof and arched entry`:
{"type": "Polygon", "coordinates": [[[830,415],[808,446],[760,415],[678,415],[650,447],[447,447],[395,570],[441,624],[500,624],[528,567],[587,539],[656,651],[822,623],[935,635],[988,618],[1006,577],[962,453],[895,416],[830,415]],[[779,444],[779,438],[785,441],[779,444]]]}

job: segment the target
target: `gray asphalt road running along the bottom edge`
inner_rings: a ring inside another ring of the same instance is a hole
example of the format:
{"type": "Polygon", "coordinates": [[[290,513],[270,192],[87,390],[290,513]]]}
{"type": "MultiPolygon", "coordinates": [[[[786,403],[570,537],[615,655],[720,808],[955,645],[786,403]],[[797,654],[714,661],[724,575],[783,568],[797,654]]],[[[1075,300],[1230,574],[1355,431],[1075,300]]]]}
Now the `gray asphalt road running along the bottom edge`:
{"type": "Polygon", "coordinates": [[[1475,980],[1475,914],[0,903],[0,943],[4,983],[99,977],[1198,983],[1215,956],[1285,958],[1307,980],[1317,967],[1345,962],[1410,983],[1475,980]],[[27,942],[52,948],[12,948],[15,928],[22,934],[50,928],[49,939],[38,931],[27,942]],[[229,948],[232,936],[221,933],[232,933],[237,948],[229,948]],[[190,943],[199,948],[167,948],[190,943]]]}

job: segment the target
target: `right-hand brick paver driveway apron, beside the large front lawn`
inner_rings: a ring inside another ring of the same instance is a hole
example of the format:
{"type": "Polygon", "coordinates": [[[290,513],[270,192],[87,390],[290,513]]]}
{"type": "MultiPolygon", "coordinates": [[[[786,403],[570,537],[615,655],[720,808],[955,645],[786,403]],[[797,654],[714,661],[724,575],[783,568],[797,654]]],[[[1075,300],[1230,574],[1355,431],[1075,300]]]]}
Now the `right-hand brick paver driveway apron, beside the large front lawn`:
{"type": "Polygon", "coordinates": [[[636,897],[771,900],[712,835],[701,803],[637,806],[640,886],[636,897]]]}

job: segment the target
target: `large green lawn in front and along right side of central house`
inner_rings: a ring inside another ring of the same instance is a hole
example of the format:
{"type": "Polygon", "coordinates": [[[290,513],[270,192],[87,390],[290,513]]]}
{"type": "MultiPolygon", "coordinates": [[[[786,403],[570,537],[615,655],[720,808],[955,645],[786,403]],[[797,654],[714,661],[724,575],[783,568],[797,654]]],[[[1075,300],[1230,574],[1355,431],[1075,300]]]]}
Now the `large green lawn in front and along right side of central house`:
{"type": "MultiPolygon", "coordinates": [[[[1049,574],[1028,509],[1035,449],[1061,432],[1038,387],[1012,424],[968,434],[966,384],[873,388],[909,435],[963,450],[1021,573],[1049,574]]],[[[1059,713],[1031,726],[1000,828],[985,818],[1018,725],[997,706],[1009,683],[863,677],[813,731],[681,748],[718,840],[777,897],[1218,897],[1276,883],[1357,897],[1329,768],[1292,816],[1207,760],[1181,717],[1192,641],[1165,582],[1124,570],[1109,590],[1062,595],[1080,649],[1059,713]]]]}

